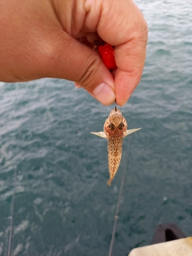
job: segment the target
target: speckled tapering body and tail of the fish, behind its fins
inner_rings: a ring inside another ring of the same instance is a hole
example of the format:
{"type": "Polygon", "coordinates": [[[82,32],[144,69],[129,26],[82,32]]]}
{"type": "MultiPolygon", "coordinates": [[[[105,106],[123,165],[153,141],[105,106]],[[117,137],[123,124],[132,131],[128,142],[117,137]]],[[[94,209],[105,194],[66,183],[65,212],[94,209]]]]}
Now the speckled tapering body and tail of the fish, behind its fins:
{"type": "Polygon", "coordinates": [[[108,163],[110,179],[107,184],[110,186],[114,175],[118,171],[118,166],[122,158],[122,137],[112,137],[108,139],[108,163]]]}

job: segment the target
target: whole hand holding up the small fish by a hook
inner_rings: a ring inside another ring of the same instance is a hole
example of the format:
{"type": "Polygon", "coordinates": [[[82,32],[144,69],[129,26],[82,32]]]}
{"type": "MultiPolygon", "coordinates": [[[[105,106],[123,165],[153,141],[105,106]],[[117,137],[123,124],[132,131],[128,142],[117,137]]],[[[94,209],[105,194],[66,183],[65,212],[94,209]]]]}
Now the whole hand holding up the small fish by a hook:
{"type": "Polygon", "coordinates": [[[0,81],[65,78],[120,106],[138,85],[147,25],[131,0],[1,0],[0,10],[0,81]],[[90,47],[98,38],[115,46],[113,72],[90,47]]]}

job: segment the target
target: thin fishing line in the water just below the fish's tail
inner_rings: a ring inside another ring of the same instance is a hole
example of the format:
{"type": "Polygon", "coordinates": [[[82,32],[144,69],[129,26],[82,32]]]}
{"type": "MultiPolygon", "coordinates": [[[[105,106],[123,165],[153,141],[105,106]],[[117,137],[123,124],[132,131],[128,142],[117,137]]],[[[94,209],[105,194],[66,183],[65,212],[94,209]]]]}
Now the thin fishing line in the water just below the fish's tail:
{"type": "MultiPolygon", "coordinates": [[[[127,145],[127,148],[126,148],[126,156],[127,156],[127,153],[128,153],[128,145],[127,145]]],[[[126,160],[127,160],[127,158],[126,158],[126,160]]],[[[112,255],[112,251],[113,251],[113,247],[114,247],[114,235],[115,235],[115,231],[116,231],[116,228],[117,228],[117,222],[118,222],[118,217],[119,217],[118,213],[119,213],[119,208],[120,208],[120,204],[121,204],[122,189],[123,189],[123,185],[124,185],[125,172],[126,172],[126,161],[125,161],[124,168],[122,170],[122,182],[121,182],[121,186],[120,186],[120,190],[119,190],[119,194],[118,194],[118,203],[117,203],[116,213],[115,213],[115,216],[114,216],[114,227],[113,227],[113,231],[112,231],[112,237],[111,237],[111,240],[110,240],[110,250],[109,250],[108,256],[112,255]]]]}

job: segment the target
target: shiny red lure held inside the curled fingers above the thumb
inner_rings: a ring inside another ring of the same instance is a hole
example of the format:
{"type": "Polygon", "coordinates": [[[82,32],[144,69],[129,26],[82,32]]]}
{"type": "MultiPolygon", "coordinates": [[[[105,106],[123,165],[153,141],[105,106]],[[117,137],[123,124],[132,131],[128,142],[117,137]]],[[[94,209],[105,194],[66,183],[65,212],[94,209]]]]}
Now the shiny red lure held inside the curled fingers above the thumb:
{"type": "Polygon", "coordinates": [[[102,62],[106,65],[109,70],[114,70],[117,68],[117,65],[114,60],[114,48],[108,43],[105,43],[103,46],[98,46],[98,53],[102,58],[102,62]]]}

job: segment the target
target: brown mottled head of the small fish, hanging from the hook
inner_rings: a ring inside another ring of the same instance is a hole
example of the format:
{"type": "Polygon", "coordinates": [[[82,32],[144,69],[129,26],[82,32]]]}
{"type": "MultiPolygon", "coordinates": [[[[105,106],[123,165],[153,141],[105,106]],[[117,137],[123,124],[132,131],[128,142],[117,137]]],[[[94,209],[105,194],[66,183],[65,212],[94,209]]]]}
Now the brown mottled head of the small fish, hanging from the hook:
{"type": "Polygon", "coordinates": [[[126,133],[127,123],[126,119],[123,118],[122,112],[118,109],[110,111],[109,117],[104,123],[103,130],[108,138],[111,136],[120,136],[126,133]]]}

